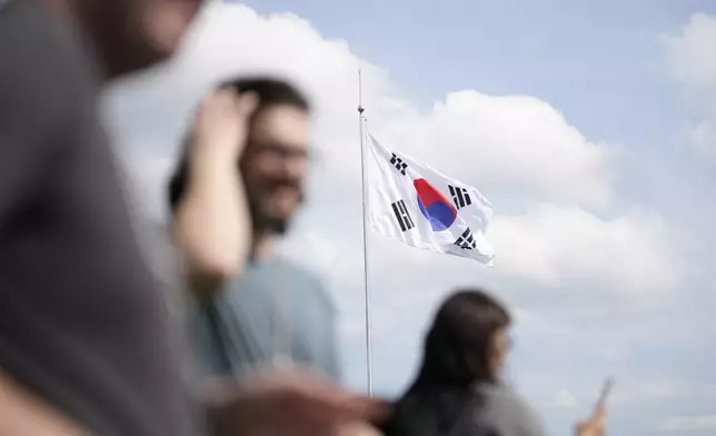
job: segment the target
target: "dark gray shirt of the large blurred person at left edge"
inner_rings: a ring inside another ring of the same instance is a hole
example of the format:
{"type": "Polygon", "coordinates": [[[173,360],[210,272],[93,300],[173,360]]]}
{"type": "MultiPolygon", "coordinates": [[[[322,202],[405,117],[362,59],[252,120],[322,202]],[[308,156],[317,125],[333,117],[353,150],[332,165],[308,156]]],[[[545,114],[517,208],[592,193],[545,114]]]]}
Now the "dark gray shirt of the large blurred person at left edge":
{"type": "Polygon", "coordinates": [[[195,435],[88,53],[44,1],[0,9],[0,367],[93,434],[195,435]]]}

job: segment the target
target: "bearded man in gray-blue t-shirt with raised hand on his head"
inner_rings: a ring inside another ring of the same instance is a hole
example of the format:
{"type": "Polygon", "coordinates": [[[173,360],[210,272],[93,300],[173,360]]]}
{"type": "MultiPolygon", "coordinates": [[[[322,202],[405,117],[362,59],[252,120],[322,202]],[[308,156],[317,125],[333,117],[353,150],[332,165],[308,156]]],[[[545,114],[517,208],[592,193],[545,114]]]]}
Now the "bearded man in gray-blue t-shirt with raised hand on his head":
{"type": "Polygon", "coordinates": [[[199,297],[197,350],[208,375],[248,373],[285,354],[339,378],[331,300],[316,277],[272,252],[304,197],[309,110],[281,80],[219,87],[171,180],[173,235],[199,297]],[[235,126],[247,116],[242,139],[235,126]]]}

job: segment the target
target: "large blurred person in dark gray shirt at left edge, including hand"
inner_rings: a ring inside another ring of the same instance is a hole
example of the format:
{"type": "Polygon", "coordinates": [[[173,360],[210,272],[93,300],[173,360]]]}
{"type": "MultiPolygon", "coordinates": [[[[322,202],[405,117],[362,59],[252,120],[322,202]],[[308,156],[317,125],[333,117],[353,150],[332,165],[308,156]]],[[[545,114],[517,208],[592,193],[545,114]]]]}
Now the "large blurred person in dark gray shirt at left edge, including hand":
{"type": "Polygon", "coordinates": [[[200,3],[0,2],[1,435],[195,436],[205,412],[216,434],[336,434],[374,410],[290,376],[199,406],[182,378],[97,98],[171,56],[200,3]]]}

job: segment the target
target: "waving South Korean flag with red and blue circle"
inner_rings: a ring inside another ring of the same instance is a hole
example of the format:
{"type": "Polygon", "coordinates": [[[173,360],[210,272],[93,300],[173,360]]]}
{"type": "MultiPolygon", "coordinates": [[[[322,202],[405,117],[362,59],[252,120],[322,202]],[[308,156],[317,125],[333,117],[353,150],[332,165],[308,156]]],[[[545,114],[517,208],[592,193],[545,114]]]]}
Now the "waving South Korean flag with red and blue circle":
{"type": "Polygon", "coordinates": [[[485,239],[493,206],[475,188],[390,150],[368,136],[371,229],[409,246],[493,265],[485,239]]]}

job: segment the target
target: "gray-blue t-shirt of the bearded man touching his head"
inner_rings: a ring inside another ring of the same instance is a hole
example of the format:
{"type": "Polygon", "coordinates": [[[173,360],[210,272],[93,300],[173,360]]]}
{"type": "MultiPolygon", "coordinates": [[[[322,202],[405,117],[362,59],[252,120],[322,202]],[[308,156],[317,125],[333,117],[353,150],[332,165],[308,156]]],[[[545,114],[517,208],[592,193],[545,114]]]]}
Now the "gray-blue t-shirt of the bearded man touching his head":
{"type": "Polygon", "coordinates": [[[205,376],[240,376],[281,354],[338,380],[336,310],[320,280],[285,260],[250,261],[210,299],[195,300],[205,376]]]}

